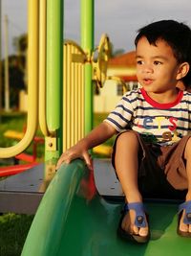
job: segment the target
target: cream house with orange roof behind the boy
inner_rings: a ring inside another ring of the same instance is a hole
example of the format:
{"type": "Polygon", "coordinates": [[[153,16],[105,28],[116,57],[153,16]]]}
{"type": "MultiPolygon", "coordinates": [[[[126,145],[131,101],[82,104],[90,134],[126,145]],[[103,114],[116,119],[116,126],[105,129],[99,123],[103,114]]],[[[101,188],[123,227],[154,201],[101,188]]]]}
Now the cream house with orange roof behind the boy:
{"type": "Polygon", "coordinates": [[[132,51],[108,63],[107,77],[103,87],[96,90],[94,97],[94,111],[110,112],[117,105],[123,93],[138,87],[136,76],[136,52],[132,51]]]}

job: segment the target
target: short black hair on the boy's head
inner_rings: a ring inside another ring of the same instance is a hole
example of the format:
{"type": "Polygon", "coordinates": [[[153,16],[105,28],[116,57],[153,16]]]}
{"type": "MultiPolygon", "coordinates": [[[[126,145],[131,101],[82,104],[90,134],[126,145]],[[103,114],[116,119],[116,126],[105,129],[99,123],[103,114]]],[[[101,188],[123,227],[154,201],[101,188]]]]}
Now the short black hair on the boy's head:
{"type": "Polygon", "coordinates": [[[157,45],[159,39],[164,40],[172,48],[179,63],[189,63],[189,72],[182,81],[186,87],[191,86],[191,29],[175,20],[160,20],[138,30],[136,46],[142,36],[145,36],[153,45],[157,45]]]}

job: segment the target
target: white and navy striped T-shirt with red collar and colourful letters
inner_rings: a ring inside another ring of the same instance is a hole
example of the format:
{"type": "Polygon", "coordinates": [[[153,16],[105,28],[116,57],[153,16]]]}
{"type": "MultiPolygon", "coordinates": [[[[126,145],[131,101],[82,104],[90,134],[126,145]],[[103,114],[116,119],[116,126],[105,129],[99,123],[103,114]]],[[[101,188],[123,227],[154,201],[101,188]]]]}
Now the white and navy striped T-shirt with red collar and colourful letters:
{"type": "Polygon", "coordinates": [[[143,88],[132,90],[104,121],[118,132],[138,131],[147,143],[171,145],[191,131],[191,93],[180,90],[175,102],[159,104],[143,88]]]}

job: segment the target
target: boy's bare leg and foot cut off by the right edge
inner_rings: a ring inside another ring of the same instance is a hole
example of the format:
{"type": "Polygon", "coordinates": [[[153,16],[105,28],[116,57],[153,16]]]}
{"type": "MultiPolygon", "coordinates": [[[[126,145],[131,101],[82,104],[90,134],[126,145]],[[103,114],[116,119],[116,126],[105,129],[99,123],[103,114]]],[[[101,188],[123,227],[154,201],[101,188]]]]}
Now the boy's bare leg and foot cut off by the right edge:
{"type": "MultiPolygon", "coordinates": [[[[186,174],[188,181],[188,192],[185,200],[188,201],[191,200],[191,138],[188,139],[187,144],[185,146],[184,158],[186,160],[186,174]]],[[[191,232],[191,225],[183,223],[184,214],[185,213],[183,212],[180,220],[180,231],[191,232]]]]}

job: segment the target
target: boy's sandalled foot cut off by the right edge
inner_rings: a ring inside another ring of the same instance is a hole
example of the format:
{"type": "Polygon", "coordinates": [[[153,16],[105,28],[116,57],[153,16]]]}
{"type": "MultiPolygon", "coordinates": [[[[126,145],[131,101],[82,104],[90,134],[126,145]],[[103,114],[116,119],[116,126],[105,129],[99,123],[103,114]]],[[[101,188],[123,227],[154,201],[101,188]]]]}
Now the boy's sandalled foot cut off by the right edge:
{"type": "Polygon", "coordinates": [[[191,200],[180,204],[177,232],[181,237],[191,237],[191,200]]]}

